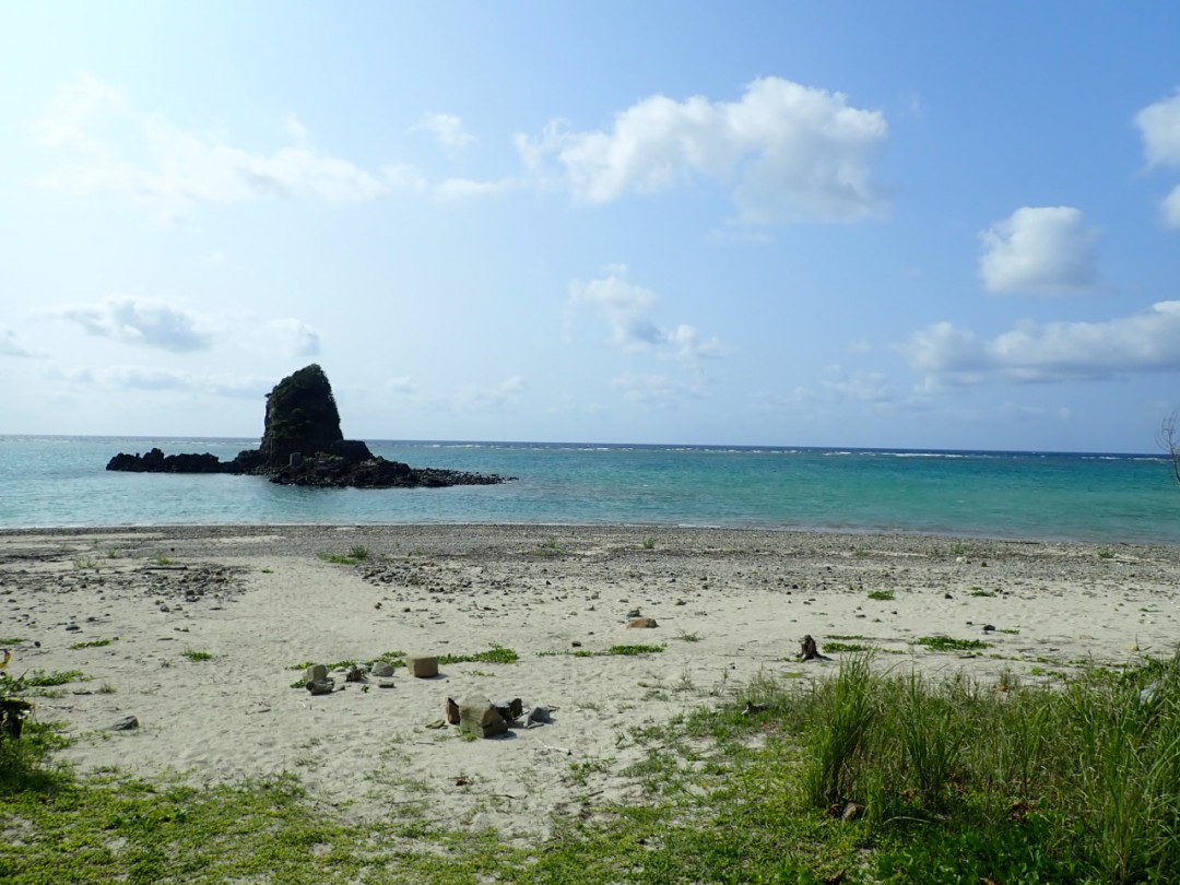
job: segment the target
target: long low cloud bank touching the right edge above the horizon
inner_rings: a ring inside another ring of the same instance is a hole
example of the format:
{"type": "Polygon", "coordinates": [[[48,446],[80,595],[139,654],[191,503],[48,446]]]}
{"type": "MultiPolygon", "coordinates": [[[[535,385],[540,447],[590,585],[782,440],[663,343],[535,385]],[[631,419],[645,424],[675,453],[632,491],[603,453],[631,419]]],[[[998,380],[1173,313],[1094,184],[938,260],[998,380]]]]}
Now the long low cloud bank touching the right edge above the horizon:
{"type": "Polygon", "coordinates": [[[991,340],[948,322],[900,350],[931,385],[1110,379],[1180,371],[1180,301],[1106,322],[1023,322],[991,340]]]}

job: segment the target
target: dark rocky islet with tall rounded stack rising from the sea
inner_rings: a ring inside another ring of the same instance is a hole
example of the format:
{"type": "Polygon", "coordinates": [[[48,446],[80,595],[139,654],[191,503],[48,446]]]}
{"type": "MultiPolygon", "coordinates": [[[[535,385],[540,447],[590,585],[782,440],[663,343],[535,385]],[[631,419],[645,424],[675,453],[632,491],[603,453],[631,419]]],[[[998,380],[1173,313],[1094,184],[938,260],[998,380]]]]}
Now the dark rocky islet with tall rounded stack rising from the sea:
{"type": "Polygon", "coordinates": [[[267,394],[267,414],[258,448],[231,461],[214,454],[148,454],[120,452],[107,470],[138,473],[253,473],[283,485],[340,489],[392,489],[448,485],[492,485],[505,477],[427,467],[375,457],[365,442],[345,439],[332,385],[316,365],[284,378],[267,394]]]}

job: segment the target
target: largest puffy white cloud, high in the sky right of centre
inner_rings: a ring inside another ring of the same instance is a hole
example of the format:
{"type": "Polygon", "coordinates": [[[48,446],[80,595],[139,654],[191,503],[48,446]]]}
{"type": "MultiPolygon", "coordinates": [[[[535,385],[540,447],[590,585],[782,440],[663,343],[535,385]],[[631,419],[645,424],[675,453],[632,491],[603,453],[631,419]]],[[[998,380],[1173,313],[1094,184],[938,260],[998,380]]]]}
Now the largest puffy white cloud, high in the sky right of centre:
{"type": "Polygon", "coordinates": [[[881,209],[870,162],[885,140],[880,111],[839,92],[766,77],[738,101],[651,96],[615,116],[610,131],[551,123],[517,136],[535,175],[556,163],[575,197],[591,204],[695,181],[726,188],[746,222],[856,221],[881,209]]]}

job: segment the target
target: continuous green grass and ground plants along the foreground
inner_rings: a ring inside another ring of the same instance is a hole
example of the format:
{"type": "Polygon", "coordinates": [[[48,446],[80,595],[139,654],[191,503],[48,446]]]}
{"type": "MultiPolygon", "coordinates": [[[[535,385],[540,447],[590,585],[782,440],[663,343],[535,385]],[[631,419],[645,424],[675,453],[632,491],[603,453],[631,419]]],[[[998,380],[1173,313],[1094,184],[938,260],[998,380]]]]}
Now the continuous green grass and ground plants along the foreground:
{"type": "MultiPolygon", "coordinates": [[[[550,835],[447,828],[415,794],[359,826],[293,775],[195,787],[76,779],[51,735],[0,740],[0,879],[437,883],[1167,883],[1180,868],[1180,656],[1054,687],[876,673],[755,677],[732,702],[579,759],[550,835]],[[1148,700],[1140,691],[1154,684],[1148,700]],[[1002,689],[1002,690],[1001,690],[1002,689]],[[22,754],[18,762],[12,753],[22,754]],[[635,754],[631,754],[632,758],[635,754]],[[847,819],[841,819],[847,818],[847,819]]],[[[408,789],[401,789],[405,796],[408,789]]]]}

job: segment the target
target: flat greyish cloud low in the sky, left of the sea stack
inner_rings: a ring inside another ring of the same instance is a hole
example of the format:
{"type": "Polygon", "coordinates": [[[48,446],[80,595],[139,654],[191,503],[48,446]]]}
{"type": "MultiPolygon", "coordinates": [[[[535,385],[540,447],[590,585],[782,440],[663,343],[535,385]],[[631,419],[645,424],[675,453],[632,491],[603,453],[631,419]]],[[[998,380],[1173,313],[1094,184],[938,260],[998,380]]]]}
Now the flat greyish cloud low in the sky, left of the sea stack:
{"type": "Polygon", "coordinates": [[[202,317],[159,301],[112,296],[98,304],[74,304],[48,312],[91,335],[172,353],[206,349],[211,330],[202,317]]]}

